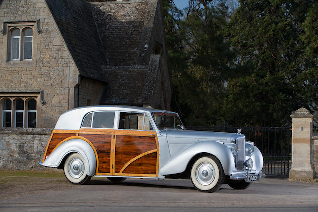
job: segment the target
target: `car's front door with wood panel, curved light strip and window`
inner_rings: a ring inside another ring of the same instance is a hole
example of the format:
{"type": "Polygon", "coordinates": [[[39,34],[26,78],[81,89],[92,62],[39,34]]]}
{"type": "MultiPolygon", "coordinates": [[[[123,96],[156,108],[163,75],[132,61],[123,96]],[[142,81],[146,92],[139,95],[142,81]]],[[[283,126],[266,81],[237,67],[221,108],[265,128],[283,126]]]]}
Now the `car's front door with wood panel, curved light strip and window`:
{"type": "Polygon", "coordinates": [[[159,145],[149,116],[121,111],[118,121],[113,175],[158,177],[159,145]]]}

